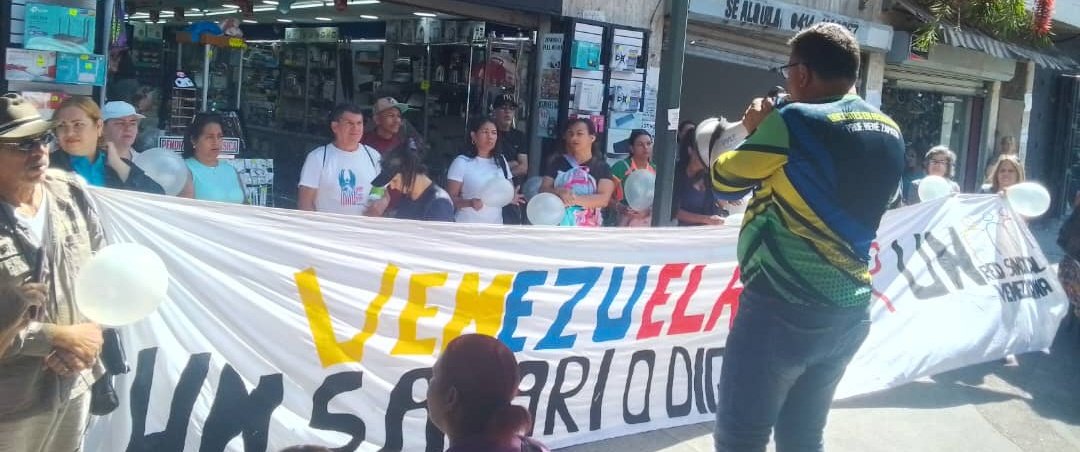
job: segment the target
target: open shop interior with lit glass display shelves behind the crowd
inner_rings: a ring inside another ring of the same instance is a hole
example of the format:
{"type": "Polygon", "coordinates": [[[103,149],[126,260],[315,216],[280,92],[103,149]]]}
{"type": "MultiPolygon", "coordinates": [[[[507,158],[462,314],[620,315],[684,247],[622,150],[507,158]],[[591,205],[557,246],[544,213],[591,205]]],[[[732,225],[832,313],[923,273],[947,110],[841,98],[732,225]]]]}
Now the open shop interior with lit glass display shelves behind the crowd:
{"type": "Polygon", "coordinates": [[[531,132],[525,119],[535,105],[532,66],[543,17],[536,13],[559,6],[530,3],[534,13],[524,14],[477,2],[449,14],[408,1],[348,0],[337,9],[282,0],[256,3],[245,14],[231,1],[198,10],[174,3],[130,15],[134,78],[160,88],[166,136],[180,135],[197,111],[232,119],[226,134],[237,138],[234,156],[257,160],[261,174],[273,175],[273,194],[262,200],[278,207],[295,206],[303,159],[330,139],[329,113],[340,102],[368,112],[381,97],[407,104],[400,134],[423,153],[436,179],[465,146],[467,120],[489,114],[500,95],[517,99],[516,127],[531,132]],[[195,36],[204,20],[226,36],[195,36]],[[242,37],[230,39],[238,29],[242,37]],[[194,86],[177,84],[177,72],[194,86]]]}

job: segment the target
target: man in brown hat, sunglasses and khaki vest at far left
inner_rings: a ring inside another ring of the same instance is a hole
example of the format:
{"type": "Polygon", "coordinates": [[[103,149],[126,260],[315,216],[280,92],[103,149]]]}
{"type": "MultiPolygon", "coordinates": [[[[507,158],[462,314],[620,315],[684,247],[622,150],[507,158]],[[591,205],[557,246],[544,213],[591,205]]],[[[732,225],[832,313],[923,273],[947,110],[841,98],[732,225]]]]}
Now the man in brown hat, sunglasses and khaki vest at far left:
{"type": "Polygon", "coordinates": [[[81,450],[104,373],[102,329],[76,307],[75,282],[105,237],[85,182],[49,168],[50,128],[0,96],[0,325],[19,328],[0,334],[0,451],[81,450]]]}

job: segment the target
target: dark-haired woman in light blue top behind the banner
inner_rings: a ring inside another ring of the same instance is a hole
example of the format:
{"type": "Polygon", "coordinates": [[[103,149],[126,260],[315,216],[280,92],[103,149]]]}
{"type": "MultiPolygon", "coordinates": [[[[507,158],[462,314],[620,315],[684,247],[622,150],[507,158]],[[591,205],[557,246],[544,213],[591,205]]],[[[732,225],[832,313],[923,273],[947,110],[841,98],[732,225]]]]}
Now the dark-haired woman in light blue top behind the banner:
{"type": "Polygon", "coordinates": [[[180,196],[219,203],[244,202],[244,188],[237,168],[218,159],[225,143],[221,117],[200,113],[184,137],[184,157],[191,178],[180,196]]]}

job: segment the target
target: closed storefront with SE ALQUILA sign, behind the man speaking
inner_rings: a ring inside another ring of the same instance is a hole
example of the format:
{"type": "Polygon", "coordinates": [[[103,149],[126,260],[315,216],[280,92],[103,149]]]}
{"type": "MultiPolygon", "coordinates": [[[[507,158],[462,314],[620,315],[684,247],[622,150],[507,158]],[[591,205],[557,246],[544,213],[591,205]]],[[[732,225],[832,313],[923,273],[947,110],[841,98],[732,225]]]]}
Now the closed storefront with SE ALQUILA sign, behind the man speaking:
{"type": "MultiPolygon", "coordinates": [[[[892,28],[829,10],[836,2],[820,3],[821,8],[774,0],[691,1],[681,119],[698,122],[724,115],[737,121],[751,98],[784,84],[773,68],[787,64],[787,40],[819,22],[842,24],[855,33],[864,52],[860,92],[878,101],[880,86],[865,77],[866,68],[870,55],[879,59],[890,49],[892,28]]],[[[860,11],[845,8],[843,13],[860,11]]]]}

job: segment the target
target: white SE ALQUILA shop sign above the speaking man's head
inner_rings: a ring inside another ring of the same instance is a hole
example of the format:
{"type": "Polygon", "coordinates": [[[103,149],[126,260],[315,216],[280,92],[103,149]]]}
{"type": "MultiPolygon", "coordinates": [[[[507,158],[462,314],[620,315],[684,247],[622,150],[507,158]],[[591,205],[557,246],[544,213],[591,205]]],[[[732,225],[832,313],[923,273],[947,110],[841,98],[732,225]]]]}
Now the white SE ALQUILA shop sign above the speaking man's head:
{"type": "Polygon", "coordinates": [[[775,0],[692,0],[690,18],[792,35],[819,22],[831,22],[850,29],[867,50],[888,52],[892,46],[892,27],[888,25],[775,0]]]}

